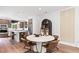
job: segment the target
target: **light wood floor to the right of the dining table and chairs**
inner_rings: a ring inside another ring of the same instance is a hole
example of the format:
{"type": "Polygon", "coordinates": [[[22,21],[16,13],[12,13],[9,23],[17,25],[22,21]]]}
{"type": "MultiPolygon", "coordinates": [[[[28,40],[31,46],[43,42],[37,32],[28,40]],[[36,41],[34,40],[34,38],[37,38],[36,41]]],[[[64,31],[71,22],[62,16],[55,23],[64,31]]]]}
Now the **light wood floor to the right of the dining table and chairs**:
{"type": "Polygon", "coordinates": [[[59,52],[62,53],[79,53],[79,48],[73,47],[73,46],[68,46],[64,44],[59,44],[59,52]]]}

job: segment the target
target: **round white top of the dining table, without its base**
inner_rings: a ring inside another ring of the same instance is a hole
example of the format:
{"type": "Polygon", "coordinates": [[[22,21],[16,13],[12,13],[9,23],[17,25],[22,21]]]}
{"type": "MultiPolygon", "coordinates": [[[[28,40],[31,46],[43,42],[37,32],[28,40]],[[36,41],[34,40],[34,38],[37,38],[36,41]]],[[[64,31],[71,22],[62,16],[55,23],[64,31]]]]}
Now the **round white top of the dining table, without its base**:
{"type": "Polygon", "coordinates": [[[27,39],[34,42],[48,42],[54,40],[53,36],[39,36],[35,37],[35,35],[27,36],[27,39]]]}

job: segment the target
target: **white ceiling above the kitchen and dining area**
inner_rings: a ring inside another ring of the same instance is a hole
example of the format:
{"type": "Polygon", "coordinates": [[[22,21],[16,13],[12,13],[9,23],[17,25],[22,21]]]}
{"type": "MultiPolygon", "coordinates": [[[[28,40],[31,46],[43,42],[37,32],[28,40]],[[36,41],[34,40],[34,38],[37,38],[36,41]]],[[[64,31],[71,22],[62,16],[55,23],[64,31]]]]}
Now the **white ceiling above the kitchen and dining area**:
{"type": "Polygon", "coordinates": [[[0,6],[0,18],[12,20],[24,20],[33,16],[43,15],[64,6],[0,6]],[[41,10],[39,10],[41,9],[41,10]]]}

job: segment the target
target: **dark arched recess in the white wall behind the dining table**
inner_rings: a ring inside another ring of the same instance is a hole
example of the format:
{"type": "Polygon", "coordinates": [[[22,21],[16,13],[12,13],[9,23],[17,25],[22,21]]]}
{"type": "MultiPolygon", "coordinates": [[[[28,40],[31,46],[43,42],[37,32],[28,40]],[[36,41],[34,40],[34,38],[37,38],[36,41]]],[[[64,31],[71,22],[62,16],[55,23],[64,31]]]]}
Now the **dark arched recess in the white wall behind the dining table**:
{"type": "Polygon", "coordinates": [[[50,20],[44,19],[44,20],[42,21],[41,28],[42,28],[42,29],[48,28],[48,30],[49,30],[49,35],[52,35],[52,22],[51,22],[50,20]]]}

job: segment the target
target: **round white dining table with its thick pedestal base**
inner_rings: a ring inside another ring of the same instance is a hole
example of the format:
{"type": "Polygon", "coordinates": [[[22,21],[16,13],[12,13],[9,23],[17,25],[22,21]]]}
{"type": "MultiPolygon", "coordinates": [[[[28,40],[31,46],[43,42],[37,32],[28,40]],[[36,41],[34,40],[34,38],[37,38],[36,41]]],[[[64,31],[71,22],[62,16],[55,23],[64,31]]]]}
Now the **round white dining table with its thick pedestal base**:
{"type": "Polygon", "coordinates": [[[42,52],[46,52],[46,48],[42,46],[43,43],[54,40],[54,37],[50,36],[50,35],[39,36],[39,37],[36,37],[35,35],[29,35],[29,36],[27,36],[27,39],[29,41],[36,42],[35,49],[37,50],[38,53],[42,53],[42,52]]]}

